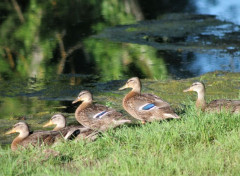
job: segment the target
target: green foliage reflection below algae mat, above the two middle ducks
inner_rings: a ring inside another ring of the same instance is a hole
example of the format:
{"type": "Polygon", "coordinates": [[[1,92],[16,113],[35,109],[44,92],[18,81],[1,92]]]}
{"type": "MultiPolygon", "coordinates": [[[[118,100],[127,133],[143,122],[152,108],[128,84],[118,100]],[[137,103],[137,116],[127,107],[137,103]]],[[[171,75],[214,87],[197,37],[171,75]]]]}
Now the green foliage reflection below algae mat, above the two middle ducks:
{"type": "Polygon", "coordinates": [[[85,46],[93,54],[102,80],[126,78],[126,75],[156,79],[167,77],[164,61],[157,57],[152,47],[96,39],[87,39],[85,46]]]}

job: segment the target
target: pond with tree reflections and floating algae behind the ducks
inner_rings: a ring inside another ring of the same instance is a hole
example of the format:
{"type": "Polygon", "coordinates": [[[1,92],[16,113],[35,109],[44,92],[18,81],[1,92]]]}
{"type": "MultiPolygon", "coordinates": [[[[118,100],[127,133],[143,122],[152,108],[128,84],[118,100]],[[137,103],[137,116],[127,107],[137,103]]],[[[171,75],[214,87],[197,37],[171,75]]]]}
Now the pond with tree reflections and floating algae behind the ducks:
{"type": "Polygon", "coordinates": [[[13,0],[0,11],[0,144],[19,120],[41,129],[62,112],[74,123],[82,89],[121,110],[117,88],[131,76],[240,72],[239,0],[13,0]]]}

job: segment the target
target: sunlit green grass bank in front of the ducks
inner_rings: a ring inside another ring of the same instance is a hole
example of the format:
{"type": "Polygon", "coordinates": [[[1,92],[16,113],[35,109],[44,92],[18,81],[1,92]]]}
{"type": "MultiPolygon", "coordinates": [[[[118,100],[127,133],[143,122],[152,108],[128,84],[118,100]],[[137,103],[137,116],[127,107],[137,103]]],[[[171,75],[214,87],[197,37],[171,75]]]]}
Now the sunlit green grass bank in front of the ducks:
{"type": "MultiPolygon", "coordinates": [[[[191,105],[192,107],[193,105],[191,105]]],[[[239,175],[240,116],[197,113],[110,130],[95,142],[0,149],[2,175],[239,175]]]]}

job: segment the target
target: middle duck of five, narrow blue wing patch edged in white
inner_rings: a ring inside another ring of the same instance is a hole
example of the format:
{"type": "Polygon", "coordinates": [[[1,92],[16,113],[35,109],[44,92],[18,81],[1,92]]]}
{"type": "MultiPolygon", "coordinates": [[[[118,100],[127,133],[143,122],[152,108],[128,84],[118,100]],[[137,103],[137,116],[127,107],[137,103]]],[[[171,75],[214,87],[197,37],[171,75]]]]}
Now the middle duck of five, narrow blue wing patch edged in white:
{"type": "Polygon", "coordinates": [[[81,91],[72,103],[82,103],[75,111],[75,118],[85,127],[97,131],[105,131],[124,123],[131,123],[131,120],[124,119],[120,112],[104,105],[93,104],[92,94],[89,91],[81,91]]]}

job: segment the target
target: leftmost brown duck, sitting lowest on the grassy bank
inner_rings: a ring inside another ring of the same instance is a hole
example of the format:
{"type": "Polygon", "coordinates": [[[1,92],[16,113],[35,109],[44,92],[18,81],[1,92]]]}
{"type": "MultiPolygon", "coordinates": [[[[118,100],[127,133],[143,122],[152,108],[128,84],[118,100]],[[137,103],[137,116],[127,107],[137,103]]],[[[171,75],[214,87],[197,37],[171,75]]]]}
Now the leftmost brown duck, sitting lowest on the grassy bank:
{"type": "Polygon", "coordinates": [[[31,133],[28,124],[25,122],[18,122],[13,128],[5,134],[19,133],[19,135],[12,141],[11,149],[17,150],[19,146],[27,148],[29,145],[41,146],[42,144],[51,145],[55,142],[56,136],[59,135],[57,131],[38,131],[31,133]]]}

